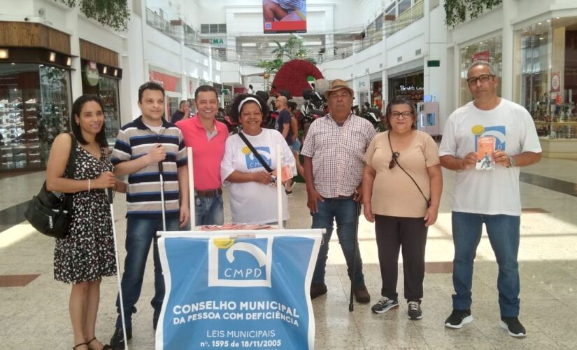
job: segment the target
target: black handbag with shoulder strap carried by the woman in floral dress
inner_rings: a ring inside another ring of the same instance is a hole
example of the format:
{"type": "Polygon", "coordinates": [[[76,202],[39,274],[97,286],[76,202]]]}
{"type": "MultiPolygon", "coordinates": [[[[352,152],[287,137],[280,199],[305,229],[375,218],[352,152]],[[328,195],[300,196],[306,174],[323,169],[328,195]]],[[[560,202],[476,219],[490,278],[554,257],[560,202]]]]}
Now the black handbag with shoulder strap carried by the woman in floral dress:
{"type": "MultiPolygon", "coordinates": [[[[71,148],[64,175],[69,179],[74,176],[76,165],[76,138],[71,136],[71,148]]],[[[70,218],[72,214],[72,194],[55,195],[46,189],[46,181],[38,195],[32,197],[24,217],[30,225],[43,235],[64,238],[69,235],[70,218]]]]}

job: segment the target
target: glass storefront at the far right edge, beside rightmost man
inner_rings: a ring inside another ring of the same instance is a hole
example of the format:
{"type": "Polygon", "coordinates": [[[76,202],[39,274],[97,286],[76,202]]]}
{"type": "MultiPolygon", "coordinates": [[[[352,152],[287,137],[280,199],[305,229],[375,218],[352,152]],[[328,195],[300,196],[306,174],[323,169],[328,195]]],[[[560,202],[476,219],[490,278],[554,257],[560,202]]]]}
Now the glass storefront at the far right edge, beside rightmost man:
{"type": "Polygon", "coordinates": [[[577,159],[577,18],[515,32],[514,99],[533,117],[543,155],[577,159]]]}

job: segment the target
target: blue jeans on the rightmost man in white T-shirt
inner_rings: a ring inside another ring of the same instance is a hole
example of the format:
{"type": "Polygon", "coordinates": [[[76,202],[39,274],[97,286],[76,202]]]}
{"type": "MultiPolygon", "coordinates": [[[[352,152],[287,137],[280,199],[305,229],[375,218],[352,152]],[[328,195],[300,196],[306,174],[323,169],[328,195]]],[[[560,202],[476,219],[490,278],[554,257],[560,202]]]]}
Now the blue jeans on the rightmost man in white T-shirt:
{"type": "Polygon", "coordinates": [[[480,241],[483,223],[497,258],[499,275],[499,309],[501,317],[519,316],[519,251],[520,216],[484,215],[453,211],[453,309],[471,308],[473,260],[480,241]]]}

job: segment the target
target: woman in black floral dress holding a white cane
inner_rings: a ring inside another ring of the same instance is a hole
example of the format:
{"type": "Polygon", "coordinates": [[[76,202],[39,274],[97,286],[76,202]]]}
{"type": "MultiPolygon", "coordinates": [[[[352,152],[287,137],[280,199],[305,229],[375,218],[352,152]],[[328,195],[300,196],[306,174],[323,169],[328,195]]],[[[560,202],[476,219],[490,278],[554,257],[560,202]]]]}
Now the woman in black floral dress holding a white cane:
{"type": "Polygon", "coordinates": [[[59,134],[52,144],[46,169],[50,191],[73,193],[69,235],[56,240],[54,277],[71,283],[70,318],[73,349],[110,349],[95,337],[100,301],[100,282],[116,274],[113,223],[107,188],[126,192],[115,179],[108,158],[101,100],[78,97],[72,106],[72,133],[78,144],[73,174],[65,174],[71,151],[71,134],[59,134]]]}

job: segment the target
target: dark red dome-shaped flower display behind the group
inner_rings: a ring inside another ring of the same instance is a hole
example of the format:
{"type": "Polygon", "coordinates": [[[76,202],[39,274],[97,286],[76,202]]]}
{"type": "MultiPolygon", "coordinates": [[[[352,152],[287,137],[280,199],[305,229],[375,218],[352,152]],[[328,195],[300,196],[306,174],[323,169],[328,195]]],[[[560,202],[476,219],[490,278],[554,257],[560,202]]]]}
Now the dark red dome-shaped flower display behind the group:
{"type": "Polygon", "coordinates": [[[273,80],[271,94],[279,90],[288,90],[292,97],[302,96],[304,89],[310,89],[311,85],[306,81],[308,76],[322,79],[322,73],[311,62],[304,59],[293,59],[280,67],[273,80]]]}

